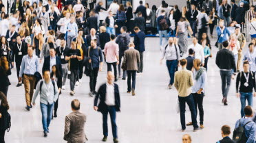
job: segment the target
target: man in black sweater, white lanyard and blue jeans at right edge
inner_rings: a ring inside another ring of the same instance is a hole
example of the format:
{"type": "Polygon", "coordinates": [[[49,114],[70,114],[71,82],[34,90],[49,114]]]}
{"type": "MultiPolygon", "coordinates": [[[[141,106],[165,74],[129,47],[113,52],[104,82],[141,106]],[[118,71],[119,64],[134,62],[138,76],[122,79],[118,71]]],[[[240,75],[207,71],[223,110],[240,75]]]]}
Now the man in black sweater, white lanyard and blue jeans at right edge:
{"type": "Polygon", "coordinates": [[[253,107],[253,96],[256,96],[255,73],[250,71],[250,64],[248,61],[244,62],[243,68],[244,72],[239,72],[236,80],[237,98],[240,98],[241,101],[241,117],[244,116],[246,99],[248,105],[253,107]],[[255,92],[253,92],[253,89],[255,92]]]}

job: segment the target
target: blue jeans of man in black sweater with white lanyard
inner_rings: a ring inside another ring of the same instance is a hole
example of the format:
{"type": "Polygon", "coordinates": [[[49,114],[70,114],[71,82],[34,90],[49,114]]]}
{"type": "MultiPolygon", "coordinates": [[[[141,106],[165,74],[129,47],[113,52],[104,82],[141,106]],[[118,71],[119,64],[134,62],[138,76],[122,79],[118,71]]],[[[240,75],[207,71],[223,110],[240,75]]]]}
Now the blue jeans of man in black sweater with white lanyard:
{"type": "Polygon", "coordinates": [[[253,92],[240,92],[240,102],[241,102],[241,117],[244,117],[244,107],[246,107],[246,99],[248,105],[253,107],[253,92]]]}

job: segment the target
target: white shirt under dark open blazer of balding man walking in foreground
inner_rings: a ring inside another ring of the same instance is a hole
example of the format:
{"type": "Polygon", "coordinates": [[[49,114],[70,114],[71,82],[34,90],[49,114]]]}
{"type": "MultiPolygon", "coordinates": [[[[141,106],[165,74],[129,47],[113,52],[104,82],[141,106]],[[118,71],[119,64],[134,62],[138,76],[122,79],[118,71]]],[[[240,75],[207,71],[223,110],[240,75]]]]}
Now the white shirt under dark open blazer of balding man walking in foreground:
{"type": "Polygon", "coordinates": [[[114,92],[114,84],[109,84],[106,83],[107,88],[106,88],[106,99],[105,99],[105,103],[106,105],[109,106],[114,106],[115,104],[115,92],[114,92]]]}

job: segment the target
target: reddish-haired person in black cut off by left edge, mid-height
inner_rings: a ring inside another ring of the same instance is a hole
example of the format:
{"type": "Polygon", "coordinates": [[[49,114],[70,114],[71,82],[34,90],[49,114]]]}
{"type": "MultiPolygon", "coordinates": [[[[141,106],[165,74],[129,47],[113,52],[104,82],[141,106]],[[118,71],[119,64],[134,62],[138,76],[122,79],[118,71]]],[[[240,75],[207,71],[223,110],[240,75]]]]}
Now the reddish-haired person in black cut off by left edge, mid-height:
{"type": "Polygon", "coordinates": [[[10,81],[8,76],[11,75],[11,70],[9,67],[9,63],[6,57],[0,58],[0,91],[3,92],[7,96],[8,87],[10,86],[10,81]]]}

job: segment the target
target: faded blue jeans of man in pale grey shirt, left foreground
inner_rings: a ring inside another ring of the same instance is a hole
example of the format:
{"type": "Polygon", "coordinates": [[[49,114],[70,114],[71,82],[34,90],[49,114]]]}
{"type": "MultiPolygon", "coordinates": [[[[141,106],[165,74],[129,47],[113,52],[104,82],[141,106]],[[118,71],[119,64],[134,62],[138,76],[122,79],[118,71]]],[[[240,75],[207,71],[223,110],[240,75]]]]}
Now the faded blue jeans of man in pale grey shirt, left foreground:
{"type": "Polygon", "coordinates": [[[43,131],[49,131],[49,125],[52,120],[52,109],[54,107],[54,103],[50,105],[49,103],[43,104],[40,103],[41,112],[42,112],[42,123],[43,123],[43,131]]]}

